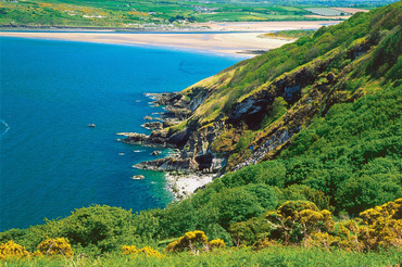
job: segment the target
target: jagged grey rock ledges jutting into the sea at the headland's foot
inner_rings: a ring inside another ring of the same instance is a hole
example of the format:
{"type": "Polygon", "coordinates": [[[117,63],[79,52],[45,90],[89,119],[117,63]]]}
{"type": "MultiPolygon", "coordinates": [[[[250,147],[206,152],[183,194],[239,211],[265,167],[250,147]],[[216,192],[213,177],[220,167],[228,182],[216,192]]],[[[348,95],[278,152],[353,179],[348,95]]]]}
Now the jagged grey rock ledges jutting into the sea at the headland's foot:
{"type": "MultiPolygon", "coordinates": [[[[208,127],[197,134],[194,130],[199,129],[197,129],[197,126],[192,127],[191,125],[187,125],[183,127],[183,129],[168,128],[172,124],[177,124],[187,119],[187,117],[208,98],[208,93],[201,88],[198,88],[196,91],[197,96],[190,98],[190,100],[176,92],[147,94],[154,100],[151,104],[165,106],[166,112],[161,114],[162,123],[155,123],[153,125],[155,127],[158,126],[159,129],[154,129],[149,136],[136,132],[120,132],[117,135],[126,137],[122,140],[125,143],[156,148],[174,148],[178,149],[178,151],[174,156],[142,162],[135,167],[160,171],[180,170],[202,174],[216,173],[222,168],[225,163],[223,158],[216,158],[210,151],[205,149],[200,150],[198,147],[208,147],[208,143],[211,143],[214,137],[218,135],[221,128],[225,127],[224,124],[216,124],[211,129],[208,127]],[[184,149],[185,145],[189,145],[190,148],[184,149]]],[[[143,126],[150,126],[150,124],[151,123],[147,123],[143,126]]]]}

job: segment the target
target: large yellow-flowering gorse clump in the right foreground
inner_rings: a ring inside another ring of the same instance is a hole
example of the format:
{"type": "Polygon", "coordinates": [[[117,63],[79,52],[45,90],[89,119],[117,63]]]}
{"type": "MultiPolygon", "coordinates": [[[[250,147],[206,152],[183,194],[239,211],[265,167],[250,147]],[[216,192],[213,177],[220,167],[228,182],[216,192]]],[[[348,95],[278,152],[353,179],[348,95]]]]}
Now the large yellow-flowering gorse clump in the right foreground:
{"type": "MultiPolygon", "coordinates": [[[[257,246],[269,240],[326,250],[366,252],[402,246],[402,199],[369,208],[360,218],[335,223],[331,213],[318,211],[314,203],[288,201],[266,218],[272,231],[257,246]]],[[[262,221],[264,224],[264,221],[262,221]]],[[[267,224],[267,223],[265,223],[267,224]]],[[[272,243],[271,243],[272,244],[272,243]]]]}

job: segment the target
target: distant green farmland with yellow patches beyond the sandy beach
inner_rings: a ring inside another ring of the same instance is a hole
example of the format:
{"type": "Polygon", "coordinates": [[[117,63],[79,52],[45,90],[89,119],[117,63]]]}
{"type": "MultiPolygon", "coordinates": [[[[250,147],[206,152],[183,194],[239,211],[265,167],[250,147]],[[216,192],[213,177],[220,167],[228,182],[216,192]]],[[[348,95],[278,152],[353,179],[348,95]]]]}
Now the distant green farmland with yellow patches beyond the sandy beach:
{"type": "MultiPolygon", "coordinates": [[[[298,1],[297,1],[298,2],[298,1]]],[[[355,2],[337,2],[334,7],[354,7],[355,2]]],[[[76,0],[32,0],[1,1],[0,25],[14,26],[86,26],[86,27],[129,27],[143,25],[167,25],[171,23],[209,21],[300,21],[319,20],[306,17],[315,14],[303,9],[303,2],[189,2],[189,1],[76,1],[76,0]],[[298,8],[299,7],[299,8],[298,8]]],[[[322,7],[319,1],[311,1],[311,7],[322,7]]],[[[384,5],[386,2],[365,2],[365,7],[384,5]]],[[[327,9],[329,12],[339,12],[327,9]]],[[[344,15],[349,15],[346,14],[344,15]]],[[[324,17],[325,18],[325,17],[324,17]]]]}

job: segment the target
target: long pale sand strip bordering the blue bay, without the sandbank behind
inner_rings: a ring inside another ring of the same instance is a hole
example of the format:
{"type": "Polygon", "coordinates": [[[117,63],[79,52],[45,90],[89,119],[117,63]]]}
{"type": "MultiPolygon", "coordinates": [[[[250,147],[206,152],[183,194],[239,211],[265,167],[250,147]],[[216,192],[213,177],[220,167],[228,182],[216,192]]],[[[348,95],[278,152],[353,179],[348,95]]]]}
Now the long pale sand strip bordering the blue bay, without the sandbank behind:
{"type": "Polygon", "coordinates": [[[261,38],[264,33],[234,34],[121,34],[121,33],[34,33],[0,31],[0,37],[16,37],[42,40],[78,41],[103,44],[136,46],[141,48],[163,48],[171,50],[196,51],[218,55],[253,58],[254,51],[268,51],[291,43],[293,40],[261,38]]]}

